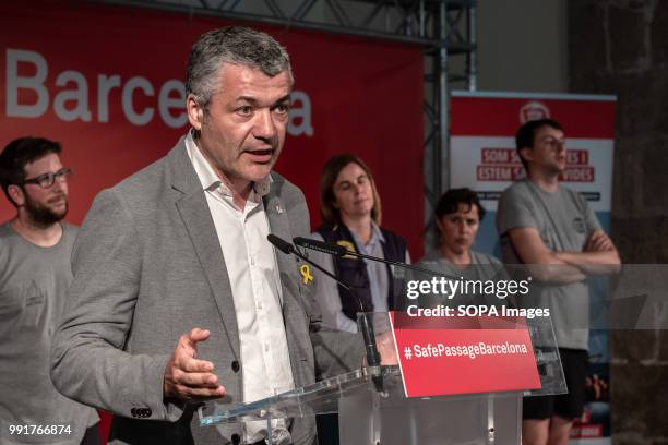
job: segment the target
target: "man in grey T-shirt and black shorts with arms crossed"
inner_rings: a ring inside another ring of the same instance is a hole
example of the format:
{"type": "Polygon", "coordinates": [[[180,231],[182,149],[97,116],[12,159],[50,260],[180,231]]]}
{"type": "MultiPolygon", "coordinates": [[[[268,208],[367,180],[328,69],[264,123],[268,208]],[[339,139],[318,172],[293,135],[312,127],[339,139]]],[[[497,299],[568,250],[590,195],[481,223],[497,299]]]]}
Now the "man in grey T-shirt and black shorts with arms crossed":
{"type": "Polygon", "coordinates": [[[503,260],[536,266],[529,270],[540,286],[532,286],[520,304],[550,309],[569,389],[562,396],[524,399],[522,442],[568,444],[573,420],[583,411],[588,371],[586,276],[610,273],[620,260],[585,199],[559,184],[566,164],[559,122],[525,123],[517,131],[516,147],[527,177],[499,201],[497,229],[503,260]]]}

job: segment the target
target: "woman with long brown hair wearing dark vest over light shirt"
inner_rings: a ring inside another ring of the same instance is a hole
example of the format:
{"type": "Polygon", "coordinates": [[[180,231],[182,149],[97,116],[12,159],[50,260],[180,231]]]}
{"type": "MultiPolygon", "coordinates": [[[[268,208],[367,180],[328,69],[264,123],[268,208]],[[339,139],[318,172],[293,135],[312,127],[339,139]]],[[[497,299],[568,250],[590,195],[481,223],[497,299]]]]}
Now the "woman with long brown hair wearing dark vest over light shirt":
{"type": "MultiPolygon", "coordinates": [[[[325,164],[320,181],[322,226],[313,238],[345,246],[350,251],[395,262],[409,262],[406,241],[381,228],[381,200],[369,167],[357,156],[343,154],[325,164]]],[[[355,293],[334,280],[320,276],[317,300],[323,324],[339,330],[357,332],[360,303],[365,312],[386,312],[394,306],[392,267],[353,256],[336,257],[313,252],[323,264],[355,293]]]]}

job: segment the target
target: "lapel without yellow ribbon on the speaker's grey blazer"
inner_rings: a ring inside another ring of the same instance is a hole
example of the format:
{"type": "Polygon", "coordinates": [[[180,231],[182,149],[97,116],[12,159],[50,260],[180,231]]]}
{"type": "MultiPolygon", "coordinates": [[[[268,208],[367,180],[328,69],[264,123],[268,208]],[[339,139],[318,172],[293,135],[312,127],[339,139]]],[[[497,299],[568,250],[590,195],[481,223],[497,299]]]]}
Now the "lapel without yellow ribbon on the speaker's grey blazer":
{"type": "Polygon", "coordinates": [[[182,140],[169,157],[172,166],[172,187],[182,193],[176,201],[177,209],[200,260],[200,266],[206,275],[229,346],[235,356],[240,358],[237,312],[225,258],[217,242],[218,236],[206,197],[192,163],[188,159],[182,140]]]}

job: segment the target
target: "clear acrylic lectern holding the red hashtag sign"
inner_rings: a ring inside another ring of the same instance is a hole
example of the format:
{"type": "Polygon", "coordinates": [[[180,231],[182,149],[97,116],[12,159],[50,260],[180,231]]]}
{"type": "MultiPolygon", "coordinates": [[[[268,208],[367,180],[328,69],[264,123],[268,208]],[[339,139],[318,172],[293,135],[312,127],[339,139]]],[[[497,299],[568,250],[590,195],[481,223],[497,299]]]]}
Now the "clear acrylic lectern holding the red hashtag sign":
{"type": "MultiPolygon", "coordinates": [[[[369,315],[377,335],[389,330],[386,313],[369,315]]],[[[527,320],[527,324],[539,389],[408,398],[399,366],[372,366],[250,404],[207,404],[200,409],[200,424],[266,420],[271,431],[271,419],[338,412],[345,445],[518,444],[522,397],[566,392],[550,318],[527,320]],[[383,393],[372,376],[382,377],[383,393]]]]}

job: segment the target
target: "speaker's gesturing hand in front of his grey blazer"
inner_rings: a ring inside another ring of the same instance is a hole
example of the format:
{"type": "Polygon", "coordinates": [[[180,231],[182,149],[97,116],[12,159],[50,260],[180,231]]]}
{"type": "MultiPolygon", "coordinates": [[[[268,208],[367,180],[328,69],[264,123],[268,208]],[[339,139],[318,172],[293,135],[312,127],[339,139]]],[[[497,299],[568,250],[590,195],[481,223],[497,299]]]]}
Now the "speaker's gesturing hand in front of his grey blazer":
{"type": "Polygon", "coordinates": [[[179,338],[165,369],[165,397],[188,400],[213,399],[225,395],[225,388],[213,373],[213,363],[198,359],[198,342],[206,340],[210,334],[208,330],[195,327],[179,338]]]}

